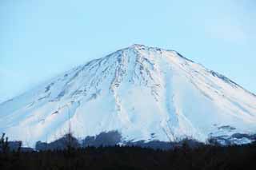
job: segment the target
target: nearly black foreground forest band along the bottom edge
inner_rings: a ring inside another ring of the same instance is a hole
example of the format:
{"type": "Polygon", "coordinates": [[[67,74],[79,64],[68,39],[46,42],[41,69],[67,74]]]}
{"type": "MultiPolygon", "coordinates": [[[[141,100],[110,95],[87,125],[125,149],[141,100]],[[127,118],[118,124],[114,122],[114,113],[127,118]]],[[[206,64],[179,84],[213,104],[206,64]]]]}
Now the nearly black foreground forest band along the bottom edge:
{"type": "Polygon", "coordinates": [[[186,142],[169,150],[138,146],[99,146],[62,150],[0,152],[0,169],[256,169],[256,142],[198,145],[186,142]]]}

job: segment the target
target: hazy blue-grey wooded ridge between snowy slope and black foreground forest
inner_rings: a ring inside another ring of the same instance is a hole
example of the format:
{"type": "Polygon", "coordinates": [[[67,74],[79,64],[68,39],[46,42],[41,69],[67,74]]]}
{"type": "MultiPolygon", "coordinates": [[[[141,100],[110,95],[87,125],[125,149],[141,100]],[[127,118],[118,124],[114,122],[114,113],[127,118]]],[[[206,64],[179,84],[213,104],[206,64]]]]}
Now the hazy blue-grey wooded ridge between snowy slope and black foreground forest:
{"type": "MultiPolygon", "coordinates": [[[[202,142],[197,140],[193,140],[190,138],[186,138],[176,142],[166,142],[159,140],[122,140],[122,135],[118,131],[110,131],[110,132],[101,132],[96,136],[86,136],[85,139],[78,141],[71,133],[66,134],[65,136],[59,138],[58,140],[54,140],[50,143],[38,141],[35,144],[35,150],[37,151],[45,151],[45,150],[60,150],[60,149],[69,149],[72,148],[86,148],[89,146],[100,147],[100,146],[115,146],[120,143],[126,146],[139,146],[142,148],[154,148],[154,149],[163,149],[168,150],[174,147],[180,147],[182,144],[186,142],[191,148],[202,145],[202,142]]],[[[213,140],[213,144],[218,144],[217,141],[213,140]]]]}

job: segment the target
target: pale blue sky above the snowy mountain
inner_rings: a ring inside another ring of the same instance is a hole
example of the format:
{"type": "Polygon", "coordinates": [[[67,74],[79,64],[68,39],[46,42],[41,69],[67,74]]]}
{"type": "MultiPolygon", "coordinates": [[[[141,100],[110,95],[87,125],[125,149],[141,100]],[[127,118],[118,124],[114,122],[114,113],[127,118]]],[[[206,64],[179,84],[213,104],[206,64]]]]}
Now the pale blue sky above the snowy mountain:
{"type": "Polygon", "coordinates": [[[134,43],[174,49],[256,93],[255,0],[1,0],[0,102],[134,43]]]}

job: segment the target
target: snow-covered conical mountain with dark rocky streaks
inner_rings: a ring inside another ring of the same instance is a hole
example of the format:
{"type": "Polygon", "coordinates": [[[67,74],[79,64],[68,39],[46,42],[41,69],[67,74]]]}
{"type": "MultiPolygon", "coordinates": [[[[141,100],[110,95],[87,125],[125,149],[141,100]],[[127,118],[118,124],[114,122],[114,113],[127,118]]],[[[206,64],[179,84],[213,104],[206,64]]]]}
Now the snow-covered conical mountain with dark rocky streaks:
{"type": "Polygon", "coordinates": [[[80,138],[117,130],[123,140],[206,141],[255,133],[256,96],[174,50],[132,45],[0,104],[0,132],[30,146],[69,124],[80,138]]]}

